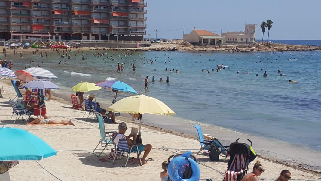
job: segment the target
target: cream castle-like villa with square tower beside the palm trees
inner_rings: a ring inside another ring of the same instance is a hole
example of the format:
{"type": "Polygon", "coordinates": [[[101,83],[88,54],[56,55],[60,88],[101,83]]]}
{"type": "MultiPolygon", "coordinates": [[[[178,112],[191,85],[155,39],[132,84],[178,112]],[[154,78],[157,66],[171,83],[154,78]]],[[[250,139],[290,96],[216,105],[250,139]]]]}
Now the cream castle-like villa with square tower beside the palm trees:
{"type": "Polygon", "coordinates": [[[221,33],[223,38],[223,44],[235,43],[235,44],[251,44],[255,41],[255,30],[257,24],[246,24],[245,32],[226,32],[221,33]]]}

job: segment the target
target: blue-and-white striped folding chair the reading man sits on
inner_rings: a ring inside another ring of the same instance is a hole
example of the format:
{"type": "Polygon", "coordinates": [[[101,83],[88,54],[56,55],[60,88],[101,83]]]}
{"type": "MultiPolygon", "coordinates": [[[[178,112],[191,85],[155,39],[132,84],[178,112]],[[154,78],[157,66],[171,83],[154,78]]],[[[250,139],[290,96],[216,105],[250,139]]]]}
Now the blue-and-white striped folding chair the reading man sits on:
{"type": "MultiPolygon", "coordinates": [[[[140,159],[140,153],[138,151],[138,144],[132,145],[131,148],[129,149],[128,148],[128,144],[127,144],[127,140],[126,140],[126,138],[124,138],[124,139],[119,139],[118,144],[116,145],[116,147],[117,147],[117,149],[115,149],[115,154],[118,152],[118,153],[121,153],[122,155],[126,154],[126,156],[127,156],[126,163],[125,163],[125,165],[123,167],[126,167],[126,165],[128,163],[128,160],[129,160],[129,155],[131,153],[137,153],[138,154],[140,165],[142,165],[142,160],[140,159]],[[133,148],[136,148],[136,151],[132,151],[133,148]]],[[[114,157],[114,159],[113,159],[113,163],[115,163],[115,158],[116,157],[114,157]]]]}

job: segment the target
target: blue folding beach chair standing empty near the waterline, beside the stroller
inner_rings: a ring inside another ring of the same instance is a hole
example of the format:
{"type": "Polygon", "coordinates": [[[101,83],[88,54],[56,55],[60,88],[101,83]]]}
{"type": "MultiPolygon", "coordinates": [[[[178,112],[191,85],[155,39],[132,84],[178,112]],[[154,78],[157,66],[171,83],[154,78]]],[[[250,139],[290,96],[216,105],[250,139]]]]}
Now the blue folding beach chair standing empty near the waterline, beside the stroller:
{"type": "Polygon", "coordinates": [[[204,140],[202,128],[197,124],[192,124],[192,126],[197,129],[197,133],[198,133],[197,141],[201,143],[201,148],[196,154],[200,153],[202,150],[208,150],[211,146],[213,146],[213,144],[215,144],[221,148],[220,149],[220,154],[222,154],[221,156],[225,156],[225,159],[229,156],[228,148],[230,146],[223,146],[219,140],[204,140]]]}

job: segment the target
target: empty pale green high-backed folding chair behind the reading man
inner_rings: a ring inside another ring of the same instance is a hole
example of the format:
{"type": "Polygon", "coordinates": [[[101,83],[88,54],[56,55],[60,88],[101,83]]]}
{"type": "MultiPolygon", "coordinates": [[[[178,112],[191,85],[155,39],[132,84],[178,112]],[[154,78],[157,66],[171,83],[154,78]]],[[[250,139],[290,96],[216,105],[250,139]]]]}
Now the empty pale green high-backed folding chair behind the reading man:
{"type": "Polygon", "coordinates": [[[95,154],[95,150],[97,149],[97,147],[99,145],[101,145],[101,147],[104,147],[104,148],[102,149],[102,151],[100,152],[99,155],[96,155],[97,157],[99,157],[105,149],[108,150],[108,144],[110,144],[110,146],[114,146],[114,149],[116,149],[115,143],[113,143],[111,141],[111,136],[116,131],[108,131],[108,132],[106,132],[106,130],[105,130],[105,122],[104,122],[104,119],[103,119],[102,115],[100,113],[97,113],[97,112],[95,113],[95,115],[96,115],[96,117],[98,119],[99,130],[100,130],[100,140],[99,140],[99,143],[96,146],[96,148],[92,151],[92,154],[96,155],[95,154]]]}

